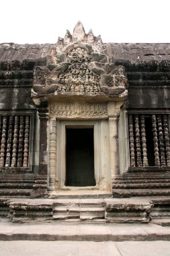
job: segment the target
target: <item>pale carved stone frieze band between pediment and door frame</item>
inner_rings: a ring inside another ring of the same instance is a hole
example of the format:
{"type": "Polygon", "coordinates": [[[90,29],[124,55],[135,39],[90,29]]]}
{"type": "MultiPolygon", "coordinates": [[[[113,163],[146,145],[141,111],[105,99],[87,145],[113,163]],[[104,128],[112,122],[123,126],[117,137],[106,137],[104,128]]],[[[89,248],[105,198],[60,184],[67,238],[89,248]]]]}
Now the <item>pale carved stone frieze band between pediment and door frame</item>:
{"type": "Polygon", "coordinates": [[[107,118],[105,103],[53,102],[50,104],[50,117],[56,118],[107,118]]]}

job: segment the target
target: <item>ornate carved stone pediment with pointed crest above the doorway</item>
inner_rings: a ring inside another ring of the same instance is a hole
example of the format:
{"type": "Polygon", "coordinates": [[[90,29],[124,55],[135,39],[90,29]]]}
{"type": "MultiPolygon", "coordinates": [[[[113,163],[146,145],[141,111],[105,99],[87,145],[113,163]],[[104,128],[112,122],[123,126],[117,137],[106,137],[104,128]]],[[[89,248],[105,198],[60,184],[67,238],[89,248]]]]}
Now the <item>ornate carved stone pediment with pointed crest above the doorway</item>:
{"type": "Polygon", "coordinates": [[[124,97],[126,91],[124,67],[109,63],[101,37],[85,34],[81,22],[73,35],[67,30],[65,38],[58,38],[46,66],[34,69],[32,96],[48,94],[61,96],[124,97]]]}

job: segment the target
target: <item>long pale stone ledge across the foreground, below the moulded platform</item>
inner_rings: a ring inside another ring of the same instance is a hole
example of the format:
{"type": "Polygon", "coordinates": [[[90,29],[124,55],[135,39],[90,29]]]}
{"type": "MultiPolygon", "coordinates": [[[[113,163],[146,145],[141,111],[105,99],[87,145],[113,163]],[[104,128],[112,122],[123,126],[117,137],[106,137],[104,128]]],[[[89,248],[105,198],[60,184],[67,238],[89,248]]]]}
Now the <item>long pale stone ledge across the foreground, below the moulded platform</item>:
{"type": "MultiPolygon", "coordinates": [[[[0,219],[1,220],[1,219],[0,219]]],[[[156,224],[11,224],[1,220],[1,241],[170,241],[156,224]]]]}

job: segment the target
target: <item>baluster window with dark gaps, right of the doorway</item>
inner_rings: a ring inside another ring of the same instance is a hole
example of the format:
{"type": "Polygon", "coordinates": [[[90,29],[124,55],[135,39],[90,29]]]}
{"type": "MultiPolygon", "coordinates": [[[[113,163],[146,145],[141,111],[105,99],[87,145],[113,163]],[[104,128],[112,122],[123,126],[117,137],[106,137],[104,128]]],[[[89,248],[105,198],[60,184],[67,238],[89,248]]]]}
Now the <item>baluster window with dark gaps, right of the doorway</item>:
{"type": "Polygon", "coordinates": [[[170,167],[169,115],[129,114],[130,168],[170,167]]]}

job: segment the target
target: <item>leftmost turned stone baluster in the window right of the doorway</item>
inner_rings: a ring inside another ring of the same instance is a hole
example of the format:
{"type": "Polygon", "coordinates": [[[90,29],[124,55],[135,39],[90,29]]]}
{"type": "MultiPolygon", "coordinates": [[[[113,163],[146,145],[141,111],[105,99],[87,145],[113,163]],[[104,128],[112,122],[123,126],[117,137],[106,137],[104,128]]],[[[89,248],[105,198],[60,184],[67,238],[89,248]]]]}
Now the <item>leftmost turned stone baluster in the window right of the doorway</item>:
{"type": "Polygon", "coordinates": [[[134,127],[133,127],[133,116],[128,116],[129,125],[129,141],[130,141],[130,166],[135,166],[135,154],[134,154],[134,127]]]}

